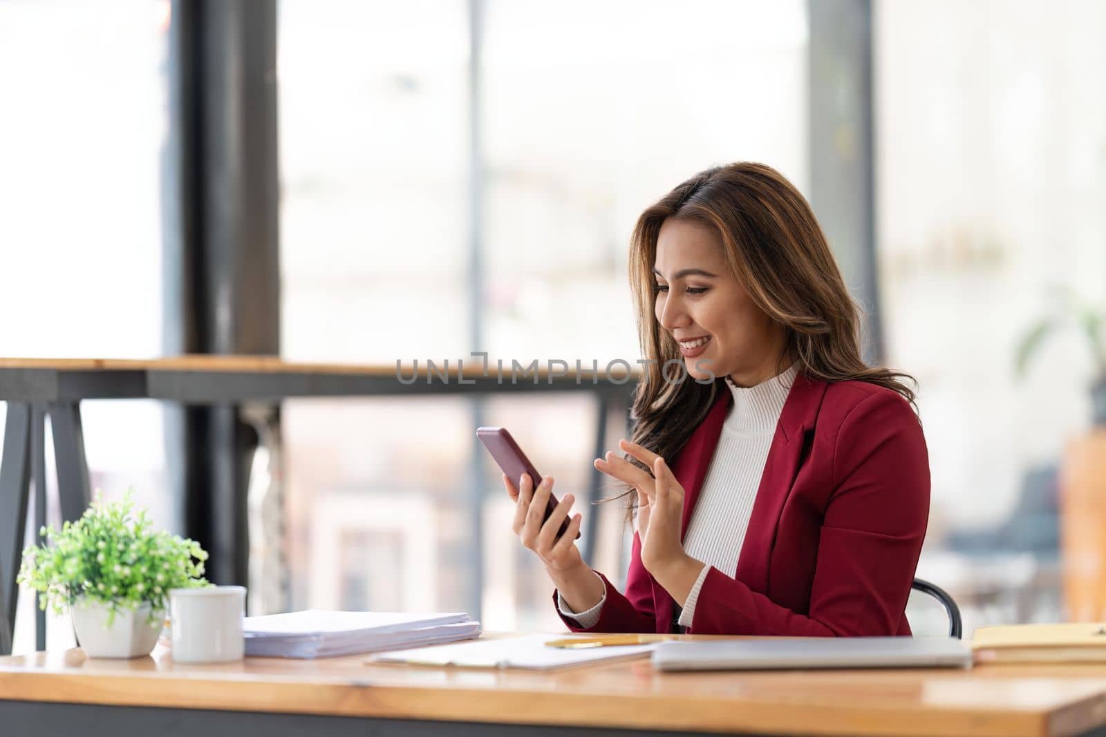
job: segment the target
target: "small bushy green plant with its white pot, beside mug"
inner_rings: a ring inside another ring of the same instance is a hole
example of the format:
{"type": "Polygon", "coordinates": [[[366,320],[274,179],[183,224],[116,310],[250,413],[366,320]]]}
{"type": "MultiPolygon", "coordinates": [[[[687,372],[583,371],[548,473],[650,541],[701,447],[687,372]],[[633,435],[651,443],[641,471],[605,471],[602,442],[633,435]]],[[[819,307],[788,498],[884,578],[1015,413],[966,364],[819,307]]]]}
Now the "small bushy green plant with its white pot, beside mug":
{"type": "Polygon", "coordinates": [[[169,589],[208,586],[199,543],[153,530],[146,510],[96,498],[75,523],[43,527],[41,547],[23,551],[18,581],[43,594],[40,606],[67,608],[88,657],[138,657],[157,643],[169,589]]]}

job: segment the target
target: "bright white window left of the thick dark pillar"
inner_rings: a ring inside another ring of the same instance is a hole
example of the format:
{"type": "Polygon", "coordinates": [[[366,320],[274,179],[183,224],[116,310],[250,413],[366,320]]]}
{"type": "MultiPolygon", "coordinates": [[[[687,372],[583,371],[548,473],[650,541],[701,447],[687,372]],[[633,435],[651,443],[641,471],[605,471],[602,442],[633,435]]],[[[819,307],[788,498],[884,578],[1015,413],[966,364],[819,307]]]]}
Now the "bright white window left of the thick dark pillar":
{"type": "MultiPolygon", "coordinates": [[[[0,3],[0,356],[161,351],[167,12],[137,0],[0,3]]],[[[158,404],[82,411],[93,488],[116,498],[134,486],[159,524],[179,528],[158,404]]],[[[51,457],[48,467],[53,488],[51,457]]],[[[14,652],[34,649],[33,608],[23,591],[14,652]]],[[[67,620],[48,632],[50,647],[72,645],[67,620]]]]}

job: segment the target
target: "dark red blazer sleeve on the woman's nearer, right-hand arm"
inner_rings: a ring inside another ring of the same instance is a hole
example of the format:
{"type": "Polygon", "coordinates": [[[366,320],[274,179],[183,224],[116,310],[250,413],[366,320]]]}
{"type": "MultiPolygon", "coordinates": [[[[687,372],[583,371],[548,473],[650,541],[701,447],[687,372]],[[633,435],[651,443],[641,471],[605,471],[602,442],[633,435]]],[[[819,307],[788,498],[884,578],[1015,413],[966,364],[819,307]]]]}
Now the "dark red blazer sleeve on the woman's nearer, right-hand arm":
{"type": "Polygon", "coordinates": [[[842,421],[833,491],[818,540],[807,614],[712,569],[691,631],[792,636],[893,635],[929,518],[929,457],[921,427],[898,394],[876,392],[842,421]]]}

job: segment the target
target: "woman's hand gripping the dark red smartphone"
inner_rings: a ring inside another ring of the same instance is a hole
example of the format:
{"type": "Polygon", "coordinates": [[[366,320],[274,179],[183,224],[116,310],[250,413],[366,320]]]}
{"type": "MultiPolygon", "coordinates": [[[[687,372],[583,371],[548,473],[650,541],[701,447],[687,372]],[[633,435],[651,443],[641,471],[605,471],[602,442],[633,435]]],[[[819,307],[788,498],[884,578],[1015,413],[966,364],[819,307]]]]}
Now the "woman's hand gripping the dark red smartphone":
{"type": "Polygon", "coordinates": [[[565,494],[549,519],[544,519],[545,507],[553,493],[552,476],[542,478],[535,489],[530,474],[522,474],[518,486],[503,474],[503,485],[515,505],[511,529],[522,540],[523,547],[533,550],[545,565],[545,571],[565,602],[577,612],[597,604],[603,599],[603,580],[588,568],[576,547],[583,516],[578,513],[573,515],[564,535],[557,537],[557,530],[575,501],[573,495],[565,494]]]}

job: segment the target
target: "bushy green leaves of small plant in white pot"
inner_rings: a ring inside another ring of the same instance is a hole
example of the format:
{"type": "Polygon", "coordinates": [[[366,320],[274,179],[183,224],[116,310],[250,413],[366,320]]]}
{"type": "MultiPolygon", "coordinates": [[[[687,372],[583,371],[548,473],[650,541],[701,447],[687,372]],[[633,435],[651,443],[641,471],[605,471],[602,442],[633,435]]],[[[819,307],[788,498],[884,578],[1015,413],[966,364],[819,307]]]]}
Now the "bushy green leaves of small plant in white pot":
{"type": "Polygon", "coordinates": [[[41,547],[23,551],[18,581],[58,613],[82,597],[109,606],[108,624],[118,611],[149,603],[149,619],[166,609],[169,589],[209,586],[204,576],[208,554],[199,543],[150,529],[145,509],[133,513],[133,489],[121,502],[104,502],[101,492],[75,523],[60,530],[43,527],[41,547]]]}

